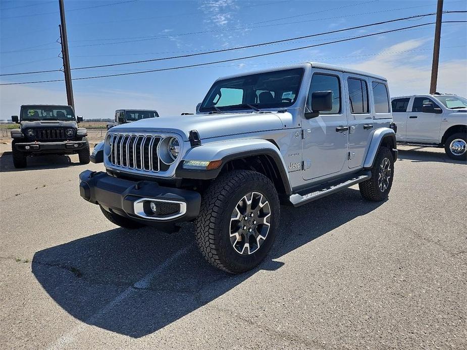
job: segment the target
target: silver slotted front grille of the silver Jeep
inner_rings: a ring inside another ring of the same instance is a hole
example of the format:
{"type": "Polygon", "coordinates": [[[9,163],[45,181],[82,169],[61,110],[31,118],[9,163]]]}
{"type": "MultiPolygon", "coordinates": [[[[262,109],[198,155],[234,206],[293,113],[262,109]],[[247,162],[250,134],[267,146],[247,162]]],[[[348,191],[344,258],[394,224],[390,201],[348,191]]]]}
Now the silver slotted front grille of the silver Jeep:
{"type": "Polygon", "coordinates": [[[114,134],[111,139],[109,161],[112,165],[128,169],[158,172],[169,165],[158,156],[160,136],[114,134]]]}

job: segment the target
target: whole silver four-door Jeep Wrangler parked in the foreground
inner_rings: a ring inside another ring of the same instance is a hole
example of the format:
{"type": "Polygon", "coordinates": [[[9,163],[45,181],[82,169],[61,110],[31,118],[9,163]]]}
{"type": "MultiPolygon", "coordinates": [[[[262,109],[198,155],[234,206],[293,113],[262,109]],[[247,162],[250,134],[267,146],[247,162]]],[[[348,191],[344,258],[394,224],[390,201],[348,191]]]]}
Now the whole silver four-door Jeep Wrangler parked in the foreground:
{"type": "Polygon", "coordinates": [[[385,78],[320,63],[218,79],[195,115],[112,128],[81,196],[113,223],[175,230],[194,221],[201,254],[230,272],[268,254],[280,204],[358,184],[388,197],[397,158],[385,78]]]}

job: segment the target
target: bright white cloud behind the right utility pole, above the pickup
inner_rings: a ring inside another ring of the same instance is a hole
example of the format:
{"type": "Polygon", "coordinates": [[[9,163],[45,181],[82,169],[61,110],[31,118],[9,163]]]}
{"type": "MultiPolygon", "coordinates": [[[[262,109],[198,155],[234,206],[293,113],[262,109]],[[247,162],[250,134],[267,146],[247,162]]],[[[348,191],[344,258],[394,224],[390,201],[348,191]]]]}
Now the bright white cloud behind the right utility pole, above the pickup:
{"type": "MultiPolygon", "coordinates": [[[[392,96],[428,93],[431,55],[427,57],[420,56],[416,52],[407,52],[419,48],[425,42],[427,39],[424,38],[403,41],[387,47],[371,59],[353,65],[343,64],[343,66],[386,77],[392,96]]],[[[440,61],[437,90],[467,96],[466,77],[467,60],[440,61]]]]}

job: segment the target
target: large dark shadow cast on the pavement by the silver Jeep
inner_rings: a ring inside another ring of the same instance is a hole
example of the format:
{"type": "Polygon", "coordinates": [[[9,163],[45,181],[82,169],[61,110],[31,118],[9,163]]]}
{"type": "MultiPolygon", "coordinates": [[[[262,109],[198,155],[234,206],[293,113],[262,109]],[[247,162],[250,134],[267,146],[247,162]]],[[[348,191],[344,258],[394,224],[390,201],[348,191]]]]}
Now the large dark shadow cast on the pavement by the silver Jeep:
{"type": "Polygon", "coordinates": [[[283,206],[269,256],[239,275],[226,274],[203,260],[192,224],[176,234],[116,228],[44,249],[35,253],[32,273],[72,316],[138,338],[221,297],[260,270],[279,269],[283,263],[275,259],[381,204],[346,189],[298,208],[283,206]]]}

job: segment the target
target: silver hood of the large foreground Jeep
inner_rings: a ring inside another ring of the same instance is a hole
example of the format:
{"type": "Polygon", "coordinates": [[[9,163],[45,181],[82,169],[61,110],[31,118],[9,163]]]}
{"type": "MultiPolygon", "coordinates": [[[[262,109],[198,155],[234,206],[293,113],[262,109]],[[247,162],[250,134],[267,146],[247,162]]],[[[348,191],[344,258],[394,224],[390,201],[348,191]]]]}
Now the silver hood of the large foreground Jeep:
{"type": "Polygon", "coordinates": [[[254,133],[268,130],[280,130],[287,125],[292,126],[292,114],[284,113],[223,113],[223,114],[190,114],[176,116],[160,116],[143,119],[130,124],[112,128],[112,131],[154,131],[172,132],[188,140],[191,130],[197,130],[201,139],[254,133]]]}

